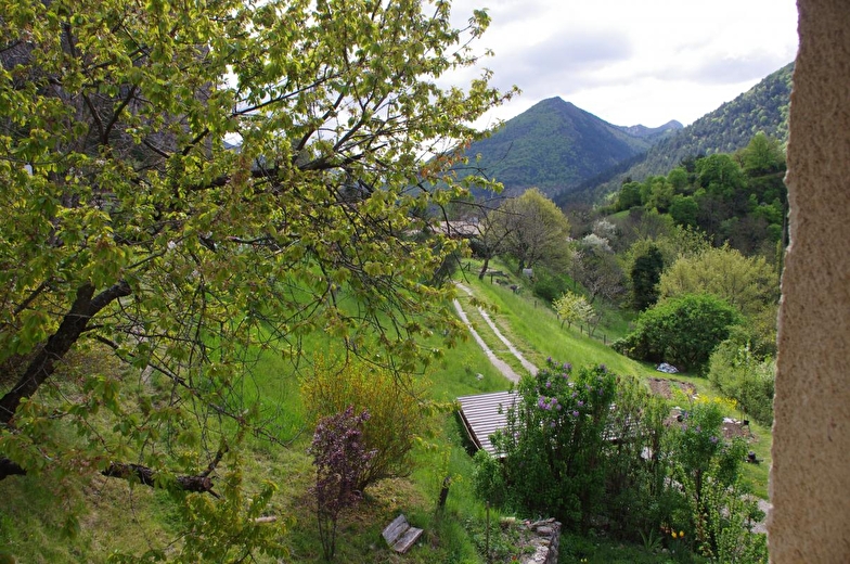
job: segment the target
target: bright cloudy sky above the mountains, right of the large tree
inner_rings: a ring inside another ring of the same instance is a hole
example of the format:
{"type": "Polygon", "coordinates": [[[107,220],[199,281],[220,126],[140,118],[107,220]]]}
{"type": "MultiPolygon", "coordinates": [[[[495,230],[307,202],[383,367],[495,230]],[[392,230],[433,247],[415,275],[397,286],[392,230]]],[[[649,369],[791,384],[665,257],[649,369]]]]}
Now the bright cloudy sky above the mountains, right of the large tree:
{"type": "MultiPolygon", "coordinates": [[[[463,22],[487,8],[477,43],[511,118],[561,97],[615,125],[688,125],[791,62],[795,0],[454,0],[463,22]]],[[[473,74],[452,77],[468,81],[473,74]]]]}

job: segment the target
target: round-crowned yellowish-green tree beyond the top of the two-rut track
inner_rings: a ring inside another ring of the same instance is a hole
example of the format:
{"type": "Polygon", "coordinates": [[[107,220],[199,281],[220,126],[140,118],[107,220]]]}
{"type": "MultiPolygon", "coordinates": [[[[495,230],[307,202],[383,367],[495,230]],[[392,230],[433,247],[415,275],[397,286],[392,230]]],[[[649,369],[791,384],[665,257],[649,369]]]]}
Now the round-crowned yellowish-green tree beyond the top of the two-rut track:
{"type": "Polygon", "coordinates": [[[538,189],[508,200],[498,213],[501,229],[510,232],[505,248],[519,261],[519,270],[538,262],[557,264],[568,256],[569,222],[538,189]]]}

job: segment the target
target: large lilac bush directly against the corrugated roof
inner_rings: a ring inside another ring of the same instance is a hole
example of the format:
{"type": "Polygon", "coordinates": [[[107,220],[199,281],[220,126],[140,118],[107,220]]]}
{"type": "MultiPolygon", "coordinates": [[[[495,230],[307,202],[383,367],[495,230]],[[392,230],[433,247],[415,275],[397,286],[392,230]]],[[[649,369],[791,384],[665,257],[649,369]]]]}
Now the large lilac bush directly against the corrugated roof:
{"type": "Polygon", "coordinates": [[[503,466],[476,454],[479,495],[554,515],[566,529],[603,518],[611,531],[636,539],[658,524],[667,412],[660,400],[604,366],[574,371],[551,359],[518,393],[505,430],[493,437],[503,466]]]}

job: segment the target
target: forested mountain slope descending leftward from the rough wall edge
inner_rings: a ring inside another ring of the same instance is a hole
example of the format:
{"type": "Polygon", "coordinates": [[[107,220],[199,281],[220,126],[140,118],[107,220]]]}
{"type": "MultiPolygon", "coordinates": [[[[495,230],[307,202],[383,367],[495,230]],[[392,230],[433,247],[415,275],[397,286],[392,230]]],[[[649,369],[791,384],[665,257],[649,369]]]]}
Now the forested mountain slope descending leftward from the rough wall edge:
{"type": "Polygon", "coordinates": [[[661,139],[630,164],[621,163],[572,191],[562,191],[555,196],[555,203],[563,206],[577,200],[596,201],[619,190],[626,178],[640,181],[652,175],[666,175],[683,159],[734,153],[745,148],[759,131],[777,139],[784,146],[788,141],[793,74],[794,63],[790,63],[733,101],[661,139]]]}

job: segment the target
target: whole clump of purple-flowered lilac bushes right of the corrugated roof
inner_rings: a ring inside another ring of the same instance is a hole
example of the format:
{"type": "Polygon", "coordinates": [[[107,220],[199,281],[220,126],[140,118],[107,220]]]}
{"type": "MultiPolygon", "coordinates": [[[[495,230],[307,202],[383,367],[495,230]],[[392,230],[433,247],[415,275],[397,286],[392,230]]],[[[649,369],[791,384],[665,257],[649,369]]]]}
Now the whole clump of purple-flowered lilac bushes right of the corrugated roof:
{"type": "Polygon", "coordinates": [[[677,562],[694,551],[711,562],[765,561],[764,536],[752,533],[763,515],[738,479],[746,446],[723,436],[733,402],[697,400],[668,428],[669,407],[635,379],[552,359],[517,392],[491,437],[504,463],[475,458],[476,490],[491,503],[555,516],[566,533],[592,525],[653,543],[660,527],[677,562]]]}

